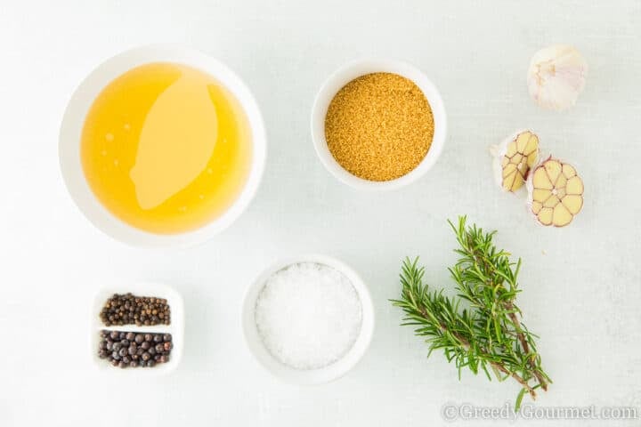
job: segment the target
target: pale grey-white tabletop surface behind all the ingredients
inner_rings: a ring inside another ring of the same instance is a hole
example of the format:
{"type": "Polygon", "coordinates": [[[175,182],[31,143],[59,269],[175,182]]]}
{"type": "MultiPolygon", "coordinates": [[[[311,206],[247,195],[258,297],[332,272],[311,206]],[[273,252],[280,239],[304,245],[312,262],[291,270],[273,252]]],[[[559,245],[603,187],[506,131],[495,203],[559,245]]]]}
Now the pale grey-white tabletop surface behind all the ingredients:
{"type": "MultiPolygon", "coordinates": [[[[640,42],[633,0],[4,0],[0,425],[429,426],[443,423],[448,401],[511,401],[515,383],[467,372],[458,382],[441,354],[426,359],[426,345],[398,326],[401,313],[387,302],[399,293],[406,255],[422,256],[434,286],[451,286],[445,220],[458,214],[499,229],[499,244],[523,257],[519,302],[555,380],[539,405],[641,407],[640,42]],[[57,162],[62,111],[80,80],[110,55],[158,42],[190,44],[235,69],[269,136],[264,181],[247,213],[189,250],[140,250],[101,235],[71,202],[57,162]],[[578,105],[562,114],[539,109],[525,85],[531,55],[555,43],[575,44],[590,67],[578,105]],[[365,54],[424,69],[450,118],[434,169],[392,193],[345,187],[312,149],[314,93],[365,54]],[[565,230],[540,228],[492,185],[487,147],[523,127],[584,178],[586,204],[565,230]],[[353,265],[377,314],[361,364],[312,388],[256,366],[239,328],[252,278],[304,252],[353,265]],[[144,382],[98,375],[86,352],[93,294],[136,279],[175,286],[187,314],[182,365],[144,382]]],[[[576,423],[556,423],[565,424],[576,423]]]]}

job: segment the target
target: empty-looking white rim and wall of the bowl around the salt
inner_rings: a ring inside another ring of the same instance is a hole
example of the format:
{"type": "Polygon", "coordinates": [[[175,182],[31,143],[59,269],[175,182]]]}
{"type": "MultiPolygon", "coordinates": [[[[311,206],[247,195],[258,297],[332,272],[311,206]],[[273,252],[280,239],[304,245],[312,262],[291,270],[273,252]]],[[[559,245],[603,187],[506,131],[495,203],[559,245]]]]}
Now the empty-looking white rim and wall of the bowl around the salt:
{"type": "Polygon", "coordinates": [[[345,375],[352,369],[368,349],[372,334],[374,334],[374,306],[367,286],[365,286],[362,279],[354,270],[345,265],[345,263],[329,256],[309,254],[276,262],[256,278],[256,281],[249,286],[245,294],[242,308],[242,327],[247,347],[256,357],[256,360],[273,375],[287,383],[300,385],[329,383],[345,375]],[[352,348],[347,351],[342,359],[338,359],[327,367],[318,369],[296,369],[288,367],[278,359],[275,359],[269,350],[265,348],[256,326],[256,300],[263,290],[267,279],[276,271],[299,262],[315,262],[340,271],[352,282],[352,286],[361,300],[361,332],[353,343],[352,348]]]}

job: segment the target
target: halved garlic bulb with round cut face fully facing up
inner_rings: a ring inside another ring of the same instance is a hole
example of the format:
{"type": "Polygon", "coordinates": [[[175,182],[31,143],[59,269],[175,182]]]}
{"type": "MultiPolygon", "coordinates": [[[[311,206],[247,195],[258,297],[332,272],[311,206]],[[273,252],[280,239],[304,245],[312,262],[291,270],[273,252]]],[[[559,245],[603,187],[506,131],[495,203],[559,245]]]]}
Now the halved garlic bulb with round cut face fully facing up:
{"type": "Polygon", "coordinates": [[[583,181],[572,165],[548,157],[527,181],[528,204],[543,225],[564,227],[583,207],[583,181]]]}

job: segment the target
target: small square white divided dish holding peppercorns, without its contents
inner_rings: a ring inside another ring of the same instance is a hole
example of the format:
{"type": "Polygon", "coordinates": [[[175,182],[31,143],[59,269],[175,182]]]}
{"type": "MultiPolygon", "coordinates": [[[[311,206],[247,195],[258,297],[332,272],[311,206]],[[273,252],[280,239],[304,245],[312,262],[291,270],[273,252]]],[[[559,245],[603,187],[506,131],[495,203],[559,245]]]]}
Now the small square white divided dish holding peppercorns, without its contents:
{"type": "Polygon", "coordinates": [[[164,375],[173,371],[183,359],[184,347],[184,303],[181,294],[178,294],[174,288],[166,286],[161,283],[150,282],[137,282],[123,286],[109,286],[101,289],[93,299],[91,327],[91,354],[95,367],[103,372],[120,373],[126,375],[164,375]],[[113,294],[126,294],[131,293],[136,296],[153,296],[164,298],[171,310],[171,323],[169,325],[156,325],[156,326],[105,326],[102,324],[100,312],[105,302],[110,299],[113,294]],[[134,332],[135,334],[171,334],[173,347],[169,353],[169,361],[166,363],[158,363],[154,367],[112,367],[107,359],[100,359],[98,357],[98,343],[100,342],[100,332],[107,331],[124,331],[134,332]]]}

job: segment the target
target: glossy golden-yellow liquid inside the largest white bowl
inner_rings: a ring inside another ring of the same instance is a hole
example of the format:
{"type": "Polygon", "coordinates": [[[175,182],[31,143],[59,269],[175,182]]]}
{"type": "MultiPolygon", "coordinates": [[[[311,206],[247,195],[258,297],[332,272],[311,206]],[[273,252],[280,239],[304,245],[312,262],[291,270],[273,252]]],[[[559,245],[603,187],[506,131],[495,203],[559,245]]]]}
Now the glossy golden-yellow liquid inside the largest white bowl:
{"type": "Polygon", "coordinates": [[[82,132],[80,157],[111,214],[158,234],[196,230],[239,197],[251,166],[247,116],[195,68],[150,63],[107,85],[82,132]]]}

